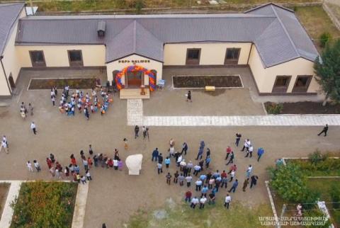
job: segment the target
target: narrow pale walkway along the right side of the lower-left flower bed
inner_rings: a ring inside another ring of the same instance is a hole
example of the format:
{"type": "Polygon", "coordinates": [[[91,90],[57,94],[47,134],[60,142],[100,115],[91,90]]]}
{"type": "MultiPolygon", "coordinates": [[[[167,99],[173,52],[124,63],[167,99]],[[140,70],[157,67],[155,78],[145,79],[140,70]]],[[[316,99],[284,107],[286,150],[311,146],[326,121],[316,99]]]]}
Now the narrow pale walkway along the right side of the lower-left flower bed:
{"type": "Polygon", "coordinates": [[[74,205],[72,228],[84,227],[87,193],[89,193],[89,181],[86,184],[79,183],[76,204],[74,205]]]}

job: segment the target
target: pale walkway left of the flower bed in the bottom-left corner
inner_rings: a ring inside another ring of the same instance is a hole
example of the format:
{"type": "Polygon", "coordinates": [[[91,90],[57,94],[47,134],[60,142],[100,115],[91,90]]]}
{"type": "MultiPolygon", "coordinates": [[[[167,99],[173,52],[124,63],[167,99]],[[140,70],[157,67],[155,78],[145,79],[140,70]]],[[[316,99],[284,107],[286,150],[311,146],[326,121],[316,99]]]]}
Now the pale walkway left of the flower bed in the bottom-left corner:
{"type": "Polygon", "coordinates": [[[1,215],[0,220],[0,227],[1,228],[8,228],[11,226],[12,217],[13,217],[13,208],[11,207],[11,203],[15,200],[20,191],[22,181],[1,181],[1,183],[11,183],[11,186],[8,190],[8,195],[6,199],[6,203],[4,206],[4,210],[1,215]]]}

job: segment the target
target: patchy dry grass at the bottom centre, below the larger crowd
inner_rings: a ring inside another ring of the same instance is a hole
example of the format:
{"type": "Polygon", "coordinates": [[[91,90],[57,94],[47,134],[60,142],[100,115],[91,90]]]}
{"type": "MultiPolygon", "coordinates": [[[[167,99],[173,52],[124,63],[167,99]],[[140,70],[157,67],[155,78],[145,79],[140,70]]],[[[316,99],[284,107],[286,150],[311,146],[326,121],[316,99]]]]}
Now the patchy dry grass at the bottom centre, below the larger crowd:
{"type": "Polygon", "coordinates": [[[232,202],[229,210],[225,209],[222,200],[216,205],[205,205],[203,210],[193,210],[188,204],[167,207],[165,217],[157,219],[153,212],[140,210],[130,218],[129,228],[145,227],[261,227],[260,216],[273,216],[269,205],[257,207],[244,206],[232,202]]]}

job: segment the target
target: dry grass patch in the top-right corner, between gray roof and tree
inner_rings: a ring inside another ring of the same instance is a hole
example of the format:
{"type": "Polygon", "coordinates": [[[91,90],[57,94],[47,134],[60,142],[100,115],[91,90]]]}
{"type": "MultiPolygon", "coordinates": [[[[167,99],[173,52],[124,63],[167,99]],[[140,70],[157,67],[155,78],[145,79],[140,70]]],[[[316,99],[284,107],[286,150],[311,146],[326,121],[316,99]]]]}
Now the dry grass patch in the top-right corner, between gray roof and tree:
{"type": "Polygon", "coordinates": [[[321,50],[319,38],[322,33],[330,33],[332,39],[340,38],[340,31],[331,22],[322,6],[295,7],[295,14],[314,40],[318,50],[321,50]]]}

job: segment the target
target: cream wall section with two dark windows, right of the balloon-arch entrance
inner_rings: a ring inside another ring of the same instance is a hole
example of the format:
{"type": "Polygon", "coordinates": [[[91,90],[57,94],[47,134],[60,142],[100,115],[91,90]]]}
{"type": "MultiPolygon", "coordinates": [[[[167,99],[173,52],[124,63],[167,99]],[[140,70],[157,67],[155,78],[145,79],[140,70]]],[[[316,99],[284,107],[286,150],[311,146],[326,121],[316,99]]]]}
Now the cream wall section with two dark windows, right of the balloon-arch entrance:
{"type": "Polygon", "coordinates": [[[164,45],[164,65],[185,65],[186,50],[200,48],[200,65],[223,65],[227,48],[241,48],[239,63],[247,64],[251,43],[247,42],[212,42],[180,43],[164,45]]]}

